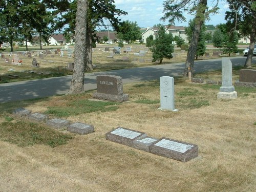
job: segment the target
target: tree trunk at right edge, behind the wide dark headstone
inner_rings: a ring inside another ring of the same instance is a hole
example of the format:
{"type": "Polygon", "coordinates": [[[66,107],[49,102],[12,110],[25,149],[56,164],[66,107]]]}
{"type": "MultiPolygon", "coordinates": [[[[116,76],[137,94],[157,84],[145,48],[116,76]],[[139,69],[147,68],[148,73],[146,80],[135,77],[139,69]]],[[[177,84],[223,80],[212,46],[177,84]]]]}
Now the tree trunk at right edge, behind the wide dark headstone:
{"type": "Polygon", "coordinates": [[[254,44],[255,44],[255,33],[256,33],[256,20],[254,19],[252,23],[251,33],[250,33],[250,45],[249,45],[249,51],[246,57],[246,61],[244,64],[244,67],[251,68],[251,60],[253,56],[253,50],[254,50],[254,44]]]}

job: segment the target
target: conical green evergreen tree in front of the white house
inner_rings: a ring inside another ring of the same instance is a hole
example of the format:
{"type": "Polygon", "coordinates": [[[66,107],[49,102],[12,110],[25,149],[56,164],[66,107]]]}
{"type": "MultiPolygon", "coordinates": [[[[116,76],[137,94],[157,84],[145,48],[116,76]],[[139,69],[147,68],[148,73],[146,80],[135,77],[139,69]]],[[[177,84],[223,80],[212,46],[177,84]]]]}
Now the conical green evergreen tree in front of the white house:
{"type": "Polygon", "coordinates": [[[172,42],[172,33],[166,34],[164,27],[161,26],[158,30],[158,34],[156,35],[156,39],[154,40],[153,47],[151,48],[151,51],[153,52],[152,62],[160,60],[160,63],[162,63],[163,58],[173,58],[172,53],[174,52],[174,45],[172,42]]]}

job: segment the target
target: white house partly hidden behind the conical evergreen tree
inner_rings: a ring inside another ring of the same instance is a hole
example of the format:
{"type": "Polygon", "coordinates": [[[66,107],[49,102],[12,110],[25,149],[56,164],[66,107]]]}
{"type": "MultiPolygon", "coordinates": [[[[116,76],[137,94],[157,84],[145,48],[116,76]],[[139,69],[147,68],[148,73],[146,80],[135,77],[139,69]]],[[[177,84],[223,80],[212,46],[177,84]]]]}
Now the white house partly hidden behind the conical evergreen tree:
{"type": "MultiPolygon", "coordinates": [[[[181,36],[187,42],[187,35],[185,34],[185,27],[183,26],[164,26],[165,32],[167,34],[172,33],[173,37],[181,36]]],[[[147,27],[146,31],[141,33],[142,41],[146,43],[146,38],[150,35],[153,35],[154,39],[156,38],[156,35],[158,33],[159,28],[158,27],[147,27]]]]}

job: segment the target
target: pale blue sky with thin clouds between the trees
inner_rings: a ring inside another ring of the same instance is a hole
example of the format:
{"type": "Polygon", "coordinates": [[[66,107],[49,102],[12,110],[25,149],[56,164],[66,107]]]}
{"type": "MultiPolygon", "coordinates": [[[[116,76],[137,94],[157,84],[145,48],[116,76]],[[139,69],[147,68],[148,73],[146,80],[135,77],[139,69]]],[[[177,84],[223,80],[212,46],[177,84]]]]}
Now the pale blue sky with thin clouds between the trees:
{"type": "MultiPolygon", "coordinates": [[[[168,25],[168,22],[163,22],[160,18],[164,15],[163,13],[163,1],[164,0],[115,0],[117,9],[126,11],[128,14],[125,16],[119,16],[123,20],[129,20],[130,22],[137,22],[139,27],[153,27],[156,24],[168,25]]],[[[214,0],[213,0],[214,1],[214,0]]],[[[211,15],[210,20],[206,25],[218,25],[226,23],[225,11],[228,10],[228,5],[219,3],[219,13],[211,15]]],[[[212,1],[208,1],[208,7],[212,6],[212,1]]],[[[184,16],[188,22],[189,19],[194,18],[193,15],[189,15],[184,12],[184,16]]],[[[187,22],[176,22],[176,26],[188,26],[187,22]]]]}

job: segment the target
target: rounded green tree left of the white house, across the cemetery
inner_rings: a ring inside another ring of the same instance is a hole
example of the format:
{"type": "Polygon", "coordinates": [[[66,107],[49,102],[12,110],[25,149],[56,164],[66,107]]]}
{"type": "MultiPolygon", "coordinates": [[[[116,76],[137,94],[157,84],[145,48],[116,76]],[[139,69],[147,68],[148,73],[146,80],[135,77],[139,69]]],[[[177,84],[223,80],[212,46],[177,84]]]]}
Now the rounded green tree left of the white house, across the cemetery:
{"type": "Polygon", "coordinates": [[[117,36],[119,39],[127,41],[128,44],[130,41],[140,40],[140,27],[137,25],[137,22],[126,20],[121,23],[117,36]]]}

